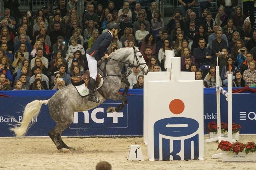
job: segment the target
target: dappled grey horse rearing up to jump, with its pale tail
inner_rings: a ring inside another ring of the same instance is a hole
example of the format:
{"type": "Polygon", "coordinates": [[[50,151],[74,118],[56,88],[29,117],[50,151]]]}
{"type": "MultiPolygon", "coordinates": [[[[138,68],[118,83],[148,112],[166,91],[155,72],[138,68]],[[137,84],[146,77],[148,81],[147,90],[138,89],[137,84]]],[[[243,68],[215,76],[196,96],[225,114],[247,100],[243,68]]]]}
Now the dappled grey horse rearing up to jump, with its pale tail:
{"type": "Polygon", "coordinates": [[[137,66],[145,75],[148,73],[148,66],[138,48],[121,48],[110,54],[107,63],[103,62],[98,67],[98,72],[104,77],[104,84],[96,91],[96,95],[101,100],[99,103],[88,102],[89,95],[82,97],[75,86],[69,84],[59,89],[48,100],[35,100],[27,104],[23,112],[22,122],[17,122],[14,125],[15,127],[10,128],[10,130],[14,131],[16,136],[24,136],[32,124],[31,119],[38,116],[42,104],[48,104],[50,116],[56,122],[55,128],[48,135],[59,151],[74,150],[74,148],[68,147],[61,139],[61,133],[73,122],[74,112],[93,109],[106,99],[123,101],[116,108],[108,107],[107,112],[118,112],[127,103],[126,95],[129,86],[126,85],[123,94],[118,93],[121,88],[121,70],[125,63],[130,64],[130,66],[137,66]]]}

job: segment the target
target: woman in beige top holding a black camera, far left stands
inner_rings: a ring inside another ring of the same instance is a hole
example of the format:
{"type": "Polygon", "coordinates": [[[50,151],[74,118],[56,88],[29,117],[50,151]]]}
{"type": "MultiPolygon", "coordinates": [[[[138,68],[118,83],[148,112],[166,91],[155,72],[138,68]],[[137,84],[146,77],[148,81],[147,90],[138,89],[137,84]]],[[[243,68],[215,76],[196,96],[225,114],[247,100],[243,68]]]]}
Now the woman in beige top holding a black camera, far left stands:
{"type": "Polygon", "coordinates": [[[14,62],[12,63],[12,67],[14,68],[13,75],[16,73],[19,68],[22,66],[22,61],[29,59],[29,53],[26,51],[25,43],[20,43],[19,50],[14,54],[14,62]]]}

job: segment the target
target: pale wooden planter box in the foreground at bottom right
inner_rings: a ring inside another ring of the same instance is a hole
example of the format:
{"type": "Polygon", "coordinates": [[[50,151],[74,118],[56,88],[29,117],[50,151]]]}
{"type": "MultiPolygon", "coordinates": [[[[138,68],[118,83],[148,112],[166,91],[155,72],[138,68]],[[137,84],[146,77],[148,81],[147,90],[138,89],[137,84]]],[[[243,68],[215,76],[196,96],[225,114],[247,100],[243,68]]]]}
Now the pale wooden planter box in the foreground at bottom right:
{"type": "Polygon", "coordinates": [[[236,155],[236,153],[232,151],[222,151],[222,162],[255,162],[256,161],[256,153],[249,152],[245,154],[245,152],[240,152],[236,155]]]}

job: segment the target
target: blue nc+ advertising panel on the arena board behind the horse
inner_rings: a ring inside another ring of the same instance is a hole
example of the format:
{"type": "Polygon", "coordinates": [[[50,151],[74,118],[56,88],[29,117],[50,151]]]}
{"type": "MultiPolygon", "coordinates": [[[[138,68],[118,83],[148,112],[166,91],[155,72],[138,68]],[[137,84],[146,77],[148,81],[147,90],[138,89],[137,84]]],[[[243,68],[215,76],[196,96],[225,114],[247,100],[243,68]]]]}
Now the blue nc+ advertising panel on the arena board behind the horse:
{"type": "Polygon", "coordinates": [[[101,104],[94,109],[75,112],[74,120],[70,129],[85,128],[127,128],[128,127],[128,105],[126,104],[122,112],[107,113],[109,106],[117,107],[119,104],[101,104]]]}

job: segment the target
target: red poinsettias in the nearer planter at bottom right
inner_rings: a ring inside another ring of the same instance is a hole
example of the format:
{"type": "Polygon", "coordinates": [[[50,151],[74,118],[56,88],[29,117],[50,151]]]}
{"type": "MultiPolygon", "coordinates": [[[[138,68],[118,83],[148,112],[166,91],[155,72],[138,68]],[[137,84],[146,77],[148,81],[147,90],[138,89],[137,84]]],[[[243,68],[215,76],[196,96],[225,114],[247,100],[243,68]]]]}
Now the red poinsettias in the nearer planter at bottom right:
{"type": "Polygon", "coordinates": [[[228,141],[222,140],[217,149],[221,149],[222,151],[232,151],[235,152],[236,155],[239,152],[245,151],[245,154],[249,152],[256,152],[256,144],[254,142],[247,142],[246,144],[242,142],[230,143],[228,141]]]}

